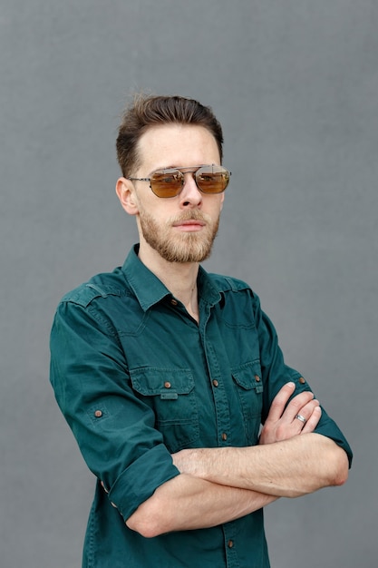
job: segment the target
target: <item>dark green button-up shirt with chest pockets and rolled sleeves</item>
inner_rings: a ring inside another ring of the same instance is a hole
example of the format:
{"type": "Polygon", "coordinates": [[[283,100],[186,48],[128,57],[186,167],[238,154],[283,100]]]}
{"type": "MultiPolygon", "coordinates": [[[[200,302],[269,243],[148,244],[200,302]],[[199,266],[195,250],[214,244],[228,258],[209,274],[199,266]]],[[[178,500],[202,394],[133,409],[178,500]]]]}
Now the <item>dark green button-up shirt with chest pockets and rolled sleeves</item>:
{"type": "MultiPolygon", "coordinates": [[[[253,446],[287,381],[276,331],[246,283],[199,269],[199,325],[139,260],[67,294],[51,335],[51,382],[97,477],[85,568],[267,568],[263,511],[213,528],[147,539],[125,521],[179,475],[186,447],[253,446]]],[[[323,409],[316,432],[352,459],[323,409]]]]}

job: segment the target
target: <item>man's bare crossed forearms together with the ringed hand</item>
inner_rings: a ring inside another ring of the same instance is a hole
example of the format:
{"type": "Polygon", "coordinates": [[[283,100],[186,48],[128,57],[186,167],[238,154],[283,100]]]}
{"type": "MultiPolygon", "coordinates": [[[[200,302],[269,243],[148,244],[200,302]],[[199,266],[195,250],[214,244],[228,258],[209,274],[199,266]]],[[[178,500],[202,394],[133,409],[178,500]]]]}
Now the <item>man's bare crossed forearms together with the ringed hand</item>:
{"type": "Polygon", "coordinates": [[[180,475],[160,485],[126,524],[145,537],[208,528],[253,513],[279,497],[296,497],[348,476],[344,449],[315,434],[319,402],[287,383],[276,395],[258,446],[181,450],[180,475]],[[286,406],[287,405],[287,406],[286,406]],[[296,419],[300,414],[306,423],[296,419]]]}

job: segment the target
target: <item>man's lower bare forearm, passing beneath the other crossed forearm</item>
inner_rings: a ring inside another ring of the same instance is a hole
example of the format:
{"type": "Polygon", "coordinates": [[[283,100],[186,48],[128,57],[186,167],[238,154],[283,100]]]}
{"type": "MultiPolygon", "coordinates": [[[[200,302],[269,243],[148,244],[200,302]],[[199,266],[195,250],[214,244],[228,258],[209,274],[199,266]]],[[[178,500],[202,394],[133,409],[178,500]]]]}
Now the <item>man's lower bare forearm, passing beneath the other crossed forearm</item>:
{"type": "Polygon", "coordinates": [[[145,537],[228,523],[276,501],[274,495],[178,475],[131,515],[126,524],[145,537]]]}

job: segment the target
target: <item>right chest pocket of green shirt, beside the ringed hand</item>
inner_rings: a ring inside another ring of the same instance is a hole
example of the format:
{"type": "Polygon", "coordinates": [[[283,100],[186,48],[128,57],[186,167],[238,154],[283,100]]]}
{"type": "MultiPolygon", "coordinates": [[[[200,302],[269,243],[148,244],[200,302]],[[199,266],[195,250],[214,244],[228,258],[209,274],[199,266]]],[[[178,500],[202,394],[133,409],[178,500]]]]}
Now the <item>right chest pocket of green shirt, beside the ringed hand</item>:
{"type": "Polygon", "coordinates": [[[258,440],[263,407],[264,387],[260,361],[257,359],[232,369],[232,378],[237,389],[247,442],[251,446],[255,446],[258,440]]]}

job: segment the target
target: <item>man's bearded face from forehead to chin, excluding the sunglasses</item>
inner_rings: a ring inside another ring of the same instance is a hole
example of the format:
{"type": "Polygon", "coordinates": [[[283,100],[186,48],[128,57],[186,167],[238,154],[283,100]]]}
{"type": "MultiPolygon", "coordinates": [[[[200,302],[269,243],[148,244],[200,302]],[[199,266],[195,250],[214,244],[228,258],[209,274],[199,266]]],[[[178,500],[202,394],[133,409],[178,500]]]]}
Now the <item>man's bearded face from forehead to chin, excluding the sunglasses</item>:
{"type": "MultiPolygon", "coordinates": [[[[219,164],[217,142],[201,126],[161,125],[150,128],[139,143],[141,167],[134,177],[150,177],[163,168],[219,164]]],[[[141,247],[150,247],[169,262],[208,258],[217,235],[224,194],[201,193],[192,173],[185,174],[179,195],[157,197],[147,181],[134,181],[141,247]]]]}

